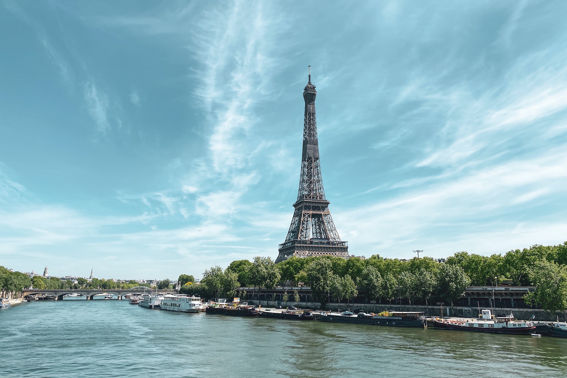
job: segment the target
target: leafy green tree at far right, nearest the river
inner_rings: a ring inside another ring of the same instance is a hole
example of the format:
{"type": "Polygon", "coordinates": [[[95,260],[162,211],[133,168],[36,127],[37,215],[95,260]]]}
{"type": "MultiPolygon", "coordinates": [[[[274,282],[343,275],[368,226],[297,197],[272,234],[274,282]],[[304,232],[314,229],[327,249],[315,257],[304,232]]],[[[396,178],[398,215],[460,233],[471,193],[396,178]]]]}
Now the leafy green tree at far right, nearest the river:
{"type": "Polygon", "coordinates": [[[539,260],[528,274],[536,289],[526,294],[524,299],[528,302],[534,301],[548,311],[565,311],[567,308],[567,268],[554,262],[539,260]]]}

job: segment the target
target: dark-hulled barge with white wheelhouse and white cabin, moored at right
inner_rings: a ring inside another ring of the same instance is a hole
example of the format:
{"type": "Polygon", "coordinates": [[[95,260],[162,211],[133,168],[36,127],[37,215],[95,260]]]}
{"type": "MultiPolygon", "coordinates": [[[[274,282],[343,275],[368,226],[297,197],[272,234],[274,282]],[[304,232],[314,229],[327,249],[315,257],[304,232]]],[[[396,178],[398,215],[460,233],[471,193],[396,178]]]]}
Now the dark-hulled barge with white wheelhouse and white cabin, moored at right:
{"type": "Polygon", "coordinates": [[[494,317],[490,310],[483,310],[478,319],[471,320],[433,320],[435,329],[460,330],[468,332],[505,333],[530,335],[536,333],[534,322],[515,320],[514,315],[494,317]]]}

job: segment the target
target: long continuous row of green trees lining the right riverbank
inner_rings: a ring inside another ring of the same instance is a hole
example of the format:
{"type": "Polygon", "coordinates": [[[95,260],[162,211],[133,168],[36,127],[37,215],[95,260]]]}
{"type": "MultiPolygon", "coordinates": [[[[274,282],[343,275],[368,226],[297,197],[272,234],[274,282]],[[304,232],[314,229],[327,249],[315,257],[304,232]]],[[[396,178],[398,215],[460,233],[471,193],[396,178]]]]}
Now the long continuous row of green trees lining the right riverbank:
{"type": "MultiPolygon", "coordinates": [[[[181,278],[181,277],[180,277],[181,278]]],[[[253,261],[232,261],[226,268],[205,270],[201,283],[185,282],[182,292],[202,298],[231,298],[239,286],[253,291],[270,290],[277,285],[306,284],[321,304],[341,301],[363,292],[371,301],[405,298],[412,303],[430,298],[453,302],[467,286],[486,286],[509,282],[533,285],[536,290],[525,299],[551,311],[567,308],[567,241],[564,244],[534,245],[510,250],[504,256],[481,256],[458,252],[445,263],[430,257],[400,261],[373,255],[358,257],[291,257],[278,264],[269,257],[253,261]]],[[[245,293],[246,294],[246,293],[245,293]]]]}

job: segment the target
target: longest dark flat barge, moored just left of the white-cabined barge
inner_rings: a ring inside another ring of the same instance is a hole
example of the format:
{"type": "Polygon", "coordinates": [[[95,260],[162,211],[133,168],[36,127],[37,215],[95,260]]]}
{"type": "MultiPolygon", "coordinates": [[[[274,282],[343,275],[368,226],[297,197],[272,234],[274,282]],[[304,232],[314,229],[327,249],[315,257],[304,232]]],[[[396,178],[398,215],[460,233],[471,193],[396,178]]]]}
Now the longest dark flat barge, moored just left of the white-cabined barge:
{"type": "Polygon", "coordinates": [[[412,327],[426,328],[427,321],[423,312],[408,311],[384,311],[380,315],[375,313],[367,314],[359,312],[354,314],[350,311],[345,312],[320,312],[315,313],[315,320],[329,323],[350,323],[350,324],[369,324],[382,325],[388,327],[412,327]]]}

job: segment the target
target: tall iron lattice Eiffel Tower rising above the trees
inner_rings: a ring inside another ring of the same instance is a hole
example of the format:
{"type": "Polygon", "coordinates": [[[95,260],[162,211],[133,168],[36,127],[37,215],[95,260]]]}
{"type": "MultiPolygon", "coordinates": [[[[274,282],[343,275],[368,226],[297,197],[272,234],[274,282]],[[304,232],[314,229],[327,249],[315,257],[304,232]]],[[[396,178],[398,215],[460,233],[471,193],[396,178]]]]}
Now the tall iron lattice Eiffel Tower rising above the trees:
{"type": "Polygon", "coordinates": [[[348,258],[346,241],[341,241],[329,211],[329,201],[325,198],[321,164],[319,162],[319,142],[317,140],[317,121],[315,119],[315,97],[317,91],[309,82],[303,89],[305,114],[303,120],[303,154],[301,177],[295,211],[284,243],[280,244],[276,262],[291,256],[338,256],[348,258]]]}

